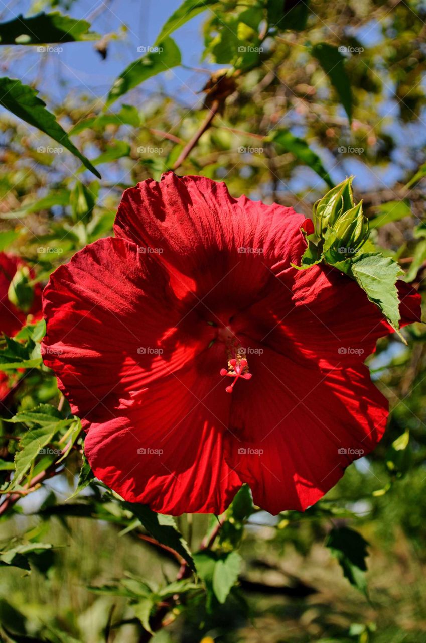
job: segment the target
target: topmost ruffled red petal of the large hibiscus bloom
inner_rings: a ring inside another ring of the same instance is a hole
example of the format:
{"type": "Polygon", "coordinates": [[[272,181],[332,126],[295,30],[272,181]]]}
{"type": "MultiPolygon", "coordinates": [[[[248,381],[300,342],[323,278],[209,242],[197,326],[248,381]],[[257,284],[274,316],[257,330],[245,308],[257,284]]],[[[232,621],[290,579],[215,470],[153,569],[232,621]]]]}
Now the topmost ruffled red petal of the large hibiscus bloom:
{"type": "Polygon", "coordinates": [[[224,183],[168,172],[126,190],[114,230],[163,261],[181,298],[195,293],[213,310],[244,306],[271,278],[269,268],[297,262],[302,221],[292,208],[233,199],[224,183]]]}

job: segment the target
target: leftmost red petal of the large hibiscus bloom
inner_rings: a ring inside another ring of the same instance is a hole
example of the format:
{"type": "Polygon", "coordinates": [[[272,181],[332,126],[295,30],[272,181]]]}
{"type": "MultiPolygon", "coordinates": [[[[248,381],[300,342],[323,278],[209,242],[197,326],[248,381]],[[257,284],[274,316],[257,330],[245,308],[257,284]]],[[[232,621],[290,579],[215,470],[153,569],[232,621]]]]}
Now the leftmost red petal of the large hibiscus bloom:
{"type": "Polygon", "coordinates": [[[191,325],[161,265],[123,239],[98,240],[58,267],[44,290],[44,316],[44,363],[89,421],[103,417],[110,401],[182,368],[209,331],[191,325]]]}

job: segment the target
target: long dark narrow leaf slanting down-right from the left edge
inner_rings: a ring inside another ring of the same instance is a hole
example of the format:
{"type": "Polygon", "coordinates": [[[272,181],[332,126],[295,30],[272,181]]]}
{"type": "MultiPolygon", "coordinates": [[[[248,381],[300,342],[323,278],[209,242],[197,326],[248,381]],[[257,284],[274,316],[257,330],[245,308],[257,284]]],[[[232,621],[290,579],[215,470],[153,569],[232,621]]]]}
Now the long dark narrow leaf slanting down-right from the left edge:
{"type": "Polygon", "coordinates": [[[82,161],[88,170],[91,170],[99,179],[101,178],[98,170],[93,167],[89,159],[85,158],[71,143],[67,132],[62,129],[55,116],[46,109],[46,104],[37,97],[35,89],[28,85],[22,85],[20,80],[0,78],[0,105],[64,145],[71,154],[82,161]]]}

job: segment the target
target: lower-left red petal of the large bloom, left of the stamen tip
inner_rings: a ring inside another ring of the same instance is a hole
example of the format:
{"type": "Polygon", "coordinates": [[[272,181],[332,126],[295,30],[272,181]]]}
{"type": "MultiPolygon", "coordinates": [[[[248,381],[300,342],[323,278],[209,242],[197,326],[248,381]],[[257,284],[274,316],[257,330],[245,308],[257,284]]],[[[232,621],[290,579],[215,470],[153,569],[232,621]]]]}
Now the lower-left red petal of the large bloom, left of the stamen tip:
{"type": "Polygon", "coordinates": [[[120,417],[92,424],[85,452],[94,475],[154,511],[222,513],[241,486],[224,457],[229,395],[189,368],[150,385],[120,417]]]}

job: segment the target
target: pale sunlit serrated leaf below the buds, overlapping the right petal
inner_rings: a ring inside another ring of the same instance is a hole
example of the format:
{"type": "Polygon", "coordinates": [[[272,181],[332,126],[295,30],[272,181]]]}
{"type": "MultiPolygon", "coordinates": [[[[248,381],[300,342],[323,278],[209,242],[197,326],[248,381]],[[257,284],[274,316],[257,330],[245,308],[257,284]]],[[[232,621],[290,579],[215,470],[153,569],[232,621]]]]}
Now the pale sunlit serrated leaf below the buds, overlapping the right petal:
{"type": "Polygon", "coordinates": [[[400,321],[396,280],[404,275],[401,267],[378,253],[360,255],[351,264],[351,272],[360,287],[366,291],[370,302],[375,303],[391,326],[398,331],[400,321]]]}

